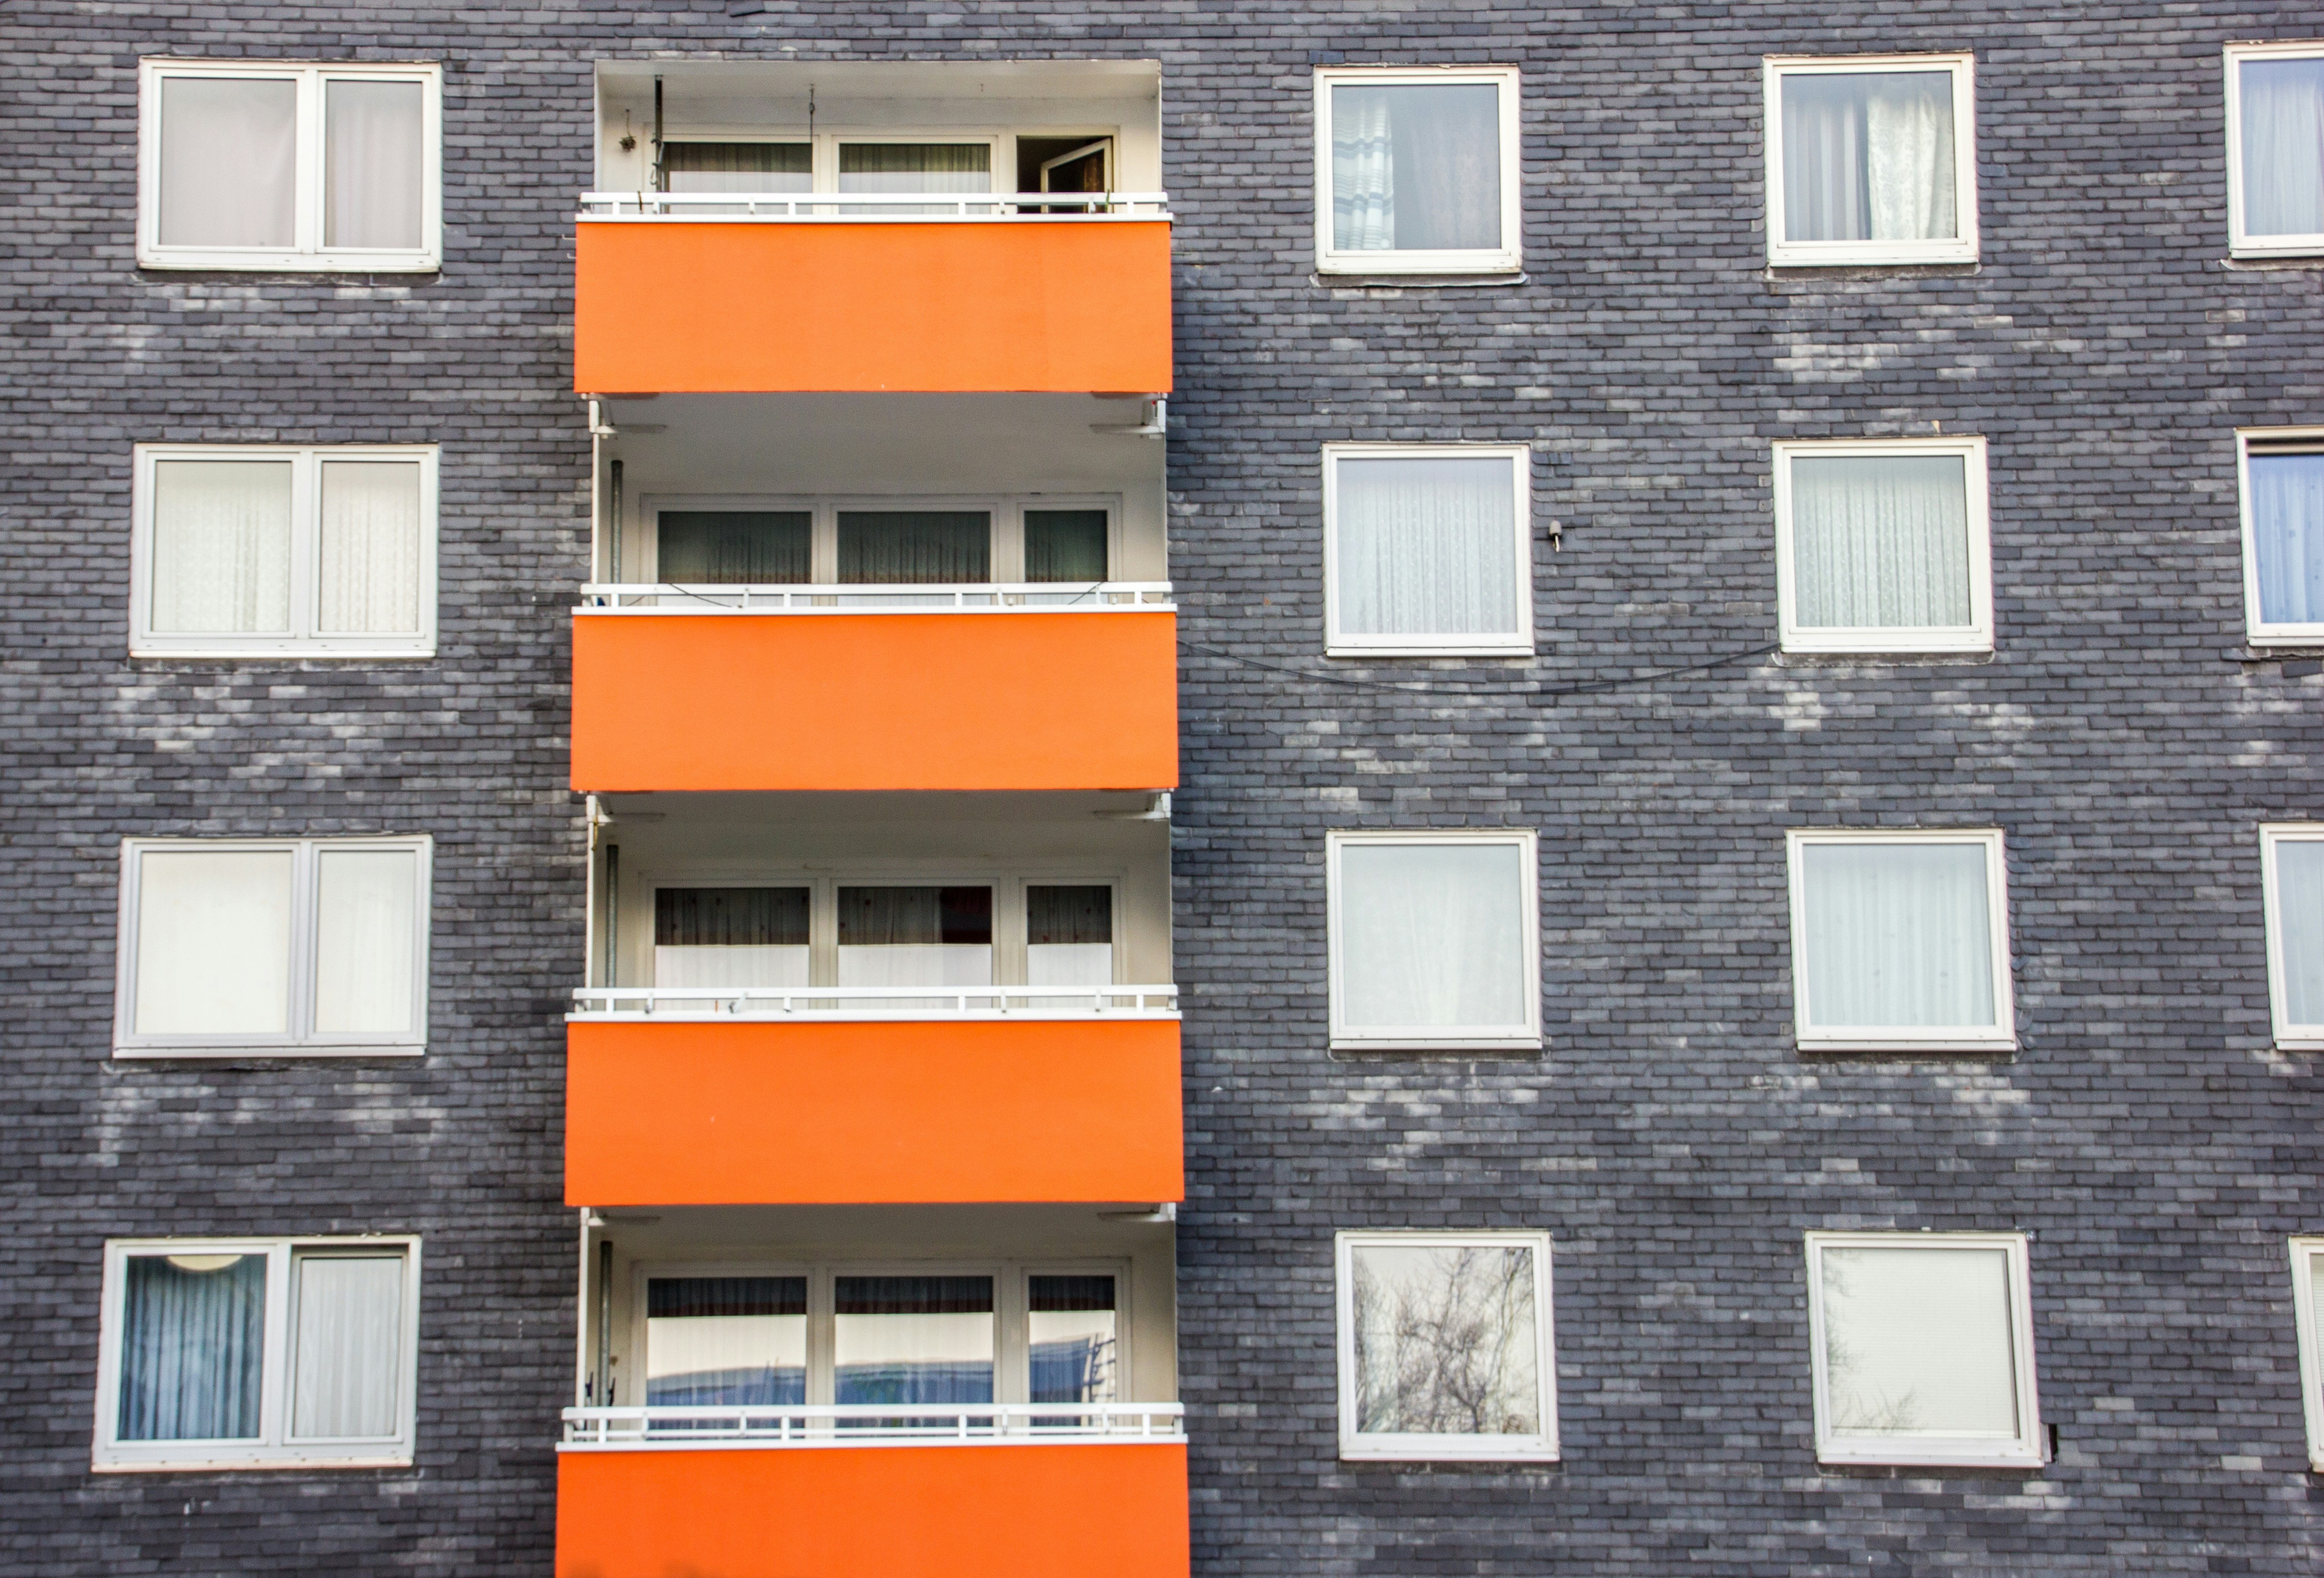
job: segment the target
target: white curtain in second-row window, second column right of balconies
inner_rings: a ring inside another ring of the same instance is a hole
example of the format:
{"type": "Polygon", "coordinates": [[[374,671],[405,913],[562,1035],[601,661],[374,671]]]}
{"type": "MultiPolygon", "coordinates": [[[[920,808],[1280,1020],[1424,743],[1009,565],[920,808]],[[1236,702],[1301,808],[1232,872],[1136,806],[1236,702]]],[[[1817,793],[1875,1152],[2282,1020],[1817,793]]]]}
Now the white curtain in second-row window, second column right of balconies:
{"type": "Polygon", "coordinates": [[[1968,472],[1959,456],[1796,456],[1792,576],[1810,630],[1966,625],[1968,472]]]}

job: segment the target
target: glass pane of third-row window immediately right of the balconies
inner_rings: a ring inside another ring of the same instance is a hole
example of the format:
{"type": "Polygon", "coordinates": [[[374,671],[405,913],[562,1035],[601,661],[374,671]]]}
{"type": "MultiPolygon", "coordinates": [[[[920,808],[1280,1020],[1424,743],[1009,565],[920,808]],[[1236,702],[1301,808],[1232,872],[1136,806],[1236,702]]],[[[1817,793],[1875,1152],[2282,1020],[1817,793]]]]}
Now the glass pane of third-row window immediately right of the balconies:
{"type": "Polygon", "coordinates": [[[1515,844],[1348,844],[1339,860],[1350,1030],[1527,1027],[1515,844]]]}

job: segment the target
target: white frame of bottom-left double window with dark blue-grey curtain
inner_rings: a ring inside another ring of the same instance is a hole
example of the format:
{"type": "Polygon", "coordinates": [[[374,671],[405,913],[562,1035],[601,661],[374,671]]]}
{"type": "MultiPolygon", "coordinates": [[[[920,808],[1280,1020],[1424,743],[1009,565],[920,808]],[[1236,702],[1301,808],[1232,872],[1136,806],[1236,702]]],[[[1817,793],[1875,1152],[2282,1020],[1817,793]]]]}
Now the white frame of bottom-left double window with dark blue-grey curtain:
{"type": "Polygon", "coordinates": [[[98,1315],[98,1418],[91,1469],[153,1473],[195,1469],[400,1469],[411,1462],[418,1413],[421,1241],[416,1234],[295,1239],[109,1239],[98,1315]],[[404,1257],[395,1436],[300,1441],[290,1436],[293,1262],[307,1255],[386,1253],[404,1257]],[[267,1308],[260,1369],[260,1429],[251,1441],[121,1441],[121,1336],[132,1255],[265,1255],[267,1308]]]}

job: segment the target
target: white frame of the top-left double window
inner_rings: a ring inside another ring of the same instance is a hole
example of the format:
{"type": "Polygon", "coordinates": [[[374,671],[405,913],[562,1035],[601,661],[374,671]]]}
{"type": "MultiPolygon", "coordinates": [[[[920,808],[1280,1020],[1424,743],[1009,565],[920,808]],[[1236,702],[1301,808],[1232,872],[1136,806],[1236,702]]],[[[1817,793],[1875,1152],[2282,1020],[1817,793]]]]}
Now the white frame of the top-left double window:
{"type": "Polygon", "coordinates": [[[270,274],[428,274],[444,267],[444,67],[435,60],[181,60],[137,63],[137,267],[270,274]],[[170,77],[265,77],[297,84],[293,244],[160,244],[160,84],[170,77]],[[416,251],[323,246],[323,88],[330,81],[421,84],[421,244],[416,251]]]}

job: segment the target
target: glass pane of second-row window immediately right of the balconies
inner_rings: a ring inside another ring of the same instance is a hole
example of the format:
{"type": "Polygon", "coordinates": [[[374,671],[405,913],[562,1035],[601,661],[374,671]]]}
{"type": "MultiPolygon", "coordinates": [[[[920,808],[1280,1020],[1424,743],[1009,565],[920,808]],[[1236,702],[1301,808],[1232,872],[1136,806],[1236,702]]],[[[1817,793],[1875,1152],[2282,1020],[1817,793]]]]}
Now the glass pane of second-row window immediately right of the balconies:
{"type": "Polygon", "coordinates": [[[1336,460],[1346,634],[1520,634],[1508,460],[1336,460]]]}

